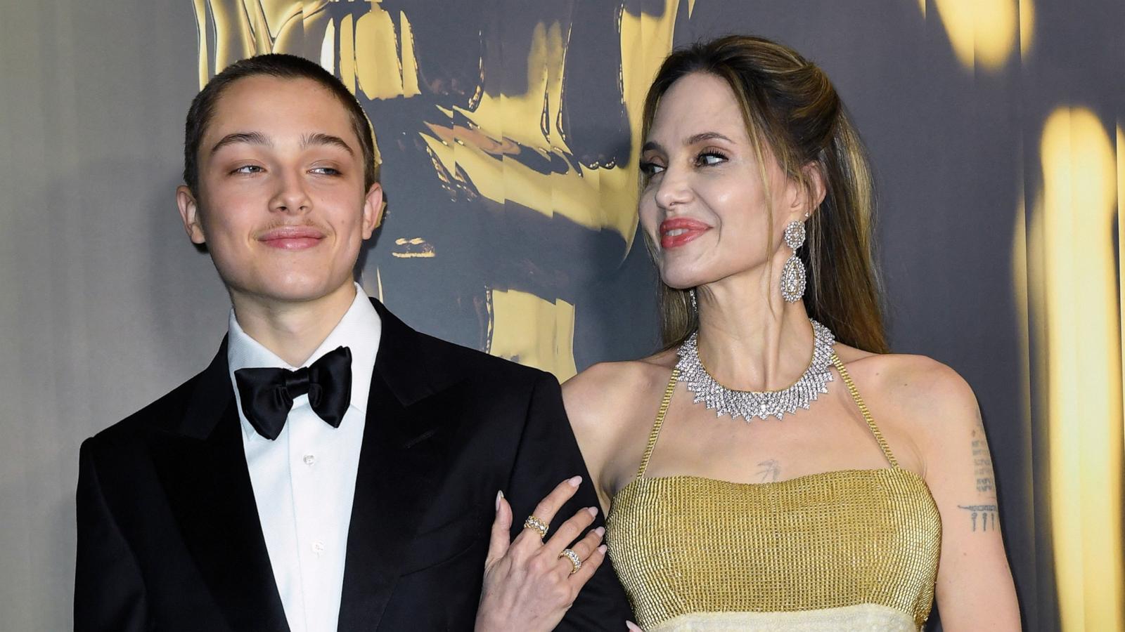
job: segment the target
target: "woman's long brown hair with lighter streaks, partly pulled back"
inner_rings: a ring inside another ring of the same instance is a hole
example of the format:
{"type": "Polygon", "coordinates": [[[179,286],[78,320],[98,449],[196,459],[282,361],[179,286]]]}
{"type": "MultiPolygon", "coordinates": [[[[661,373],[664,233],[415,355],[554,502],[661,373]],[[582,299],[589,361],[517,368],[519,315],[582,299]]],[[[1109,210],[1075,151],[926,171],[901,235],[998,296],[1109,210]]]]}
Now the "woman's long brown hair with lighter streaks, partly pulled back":
{"type": "MultiPolygon", "coordinates": [[[[820,171],[825,199],[806,224],[808,237],[799,254],[808,276],[806,309],[844,344],[885,353],[872,252],[871,169],[828,75],[796,51],[760,37],[731,35],[695,44],[673,52],[657,72],[645,99],[642,137],[648,137],[668,88],[696,72],[730,85],[758,164],[772,155],[789,178],[806,187],[810,186],[806,168],[811,164],[820,171]]],[[[660,314],[665,349],[678,346],[699,326],[687,290],[664,282],[660,314]]]]}

